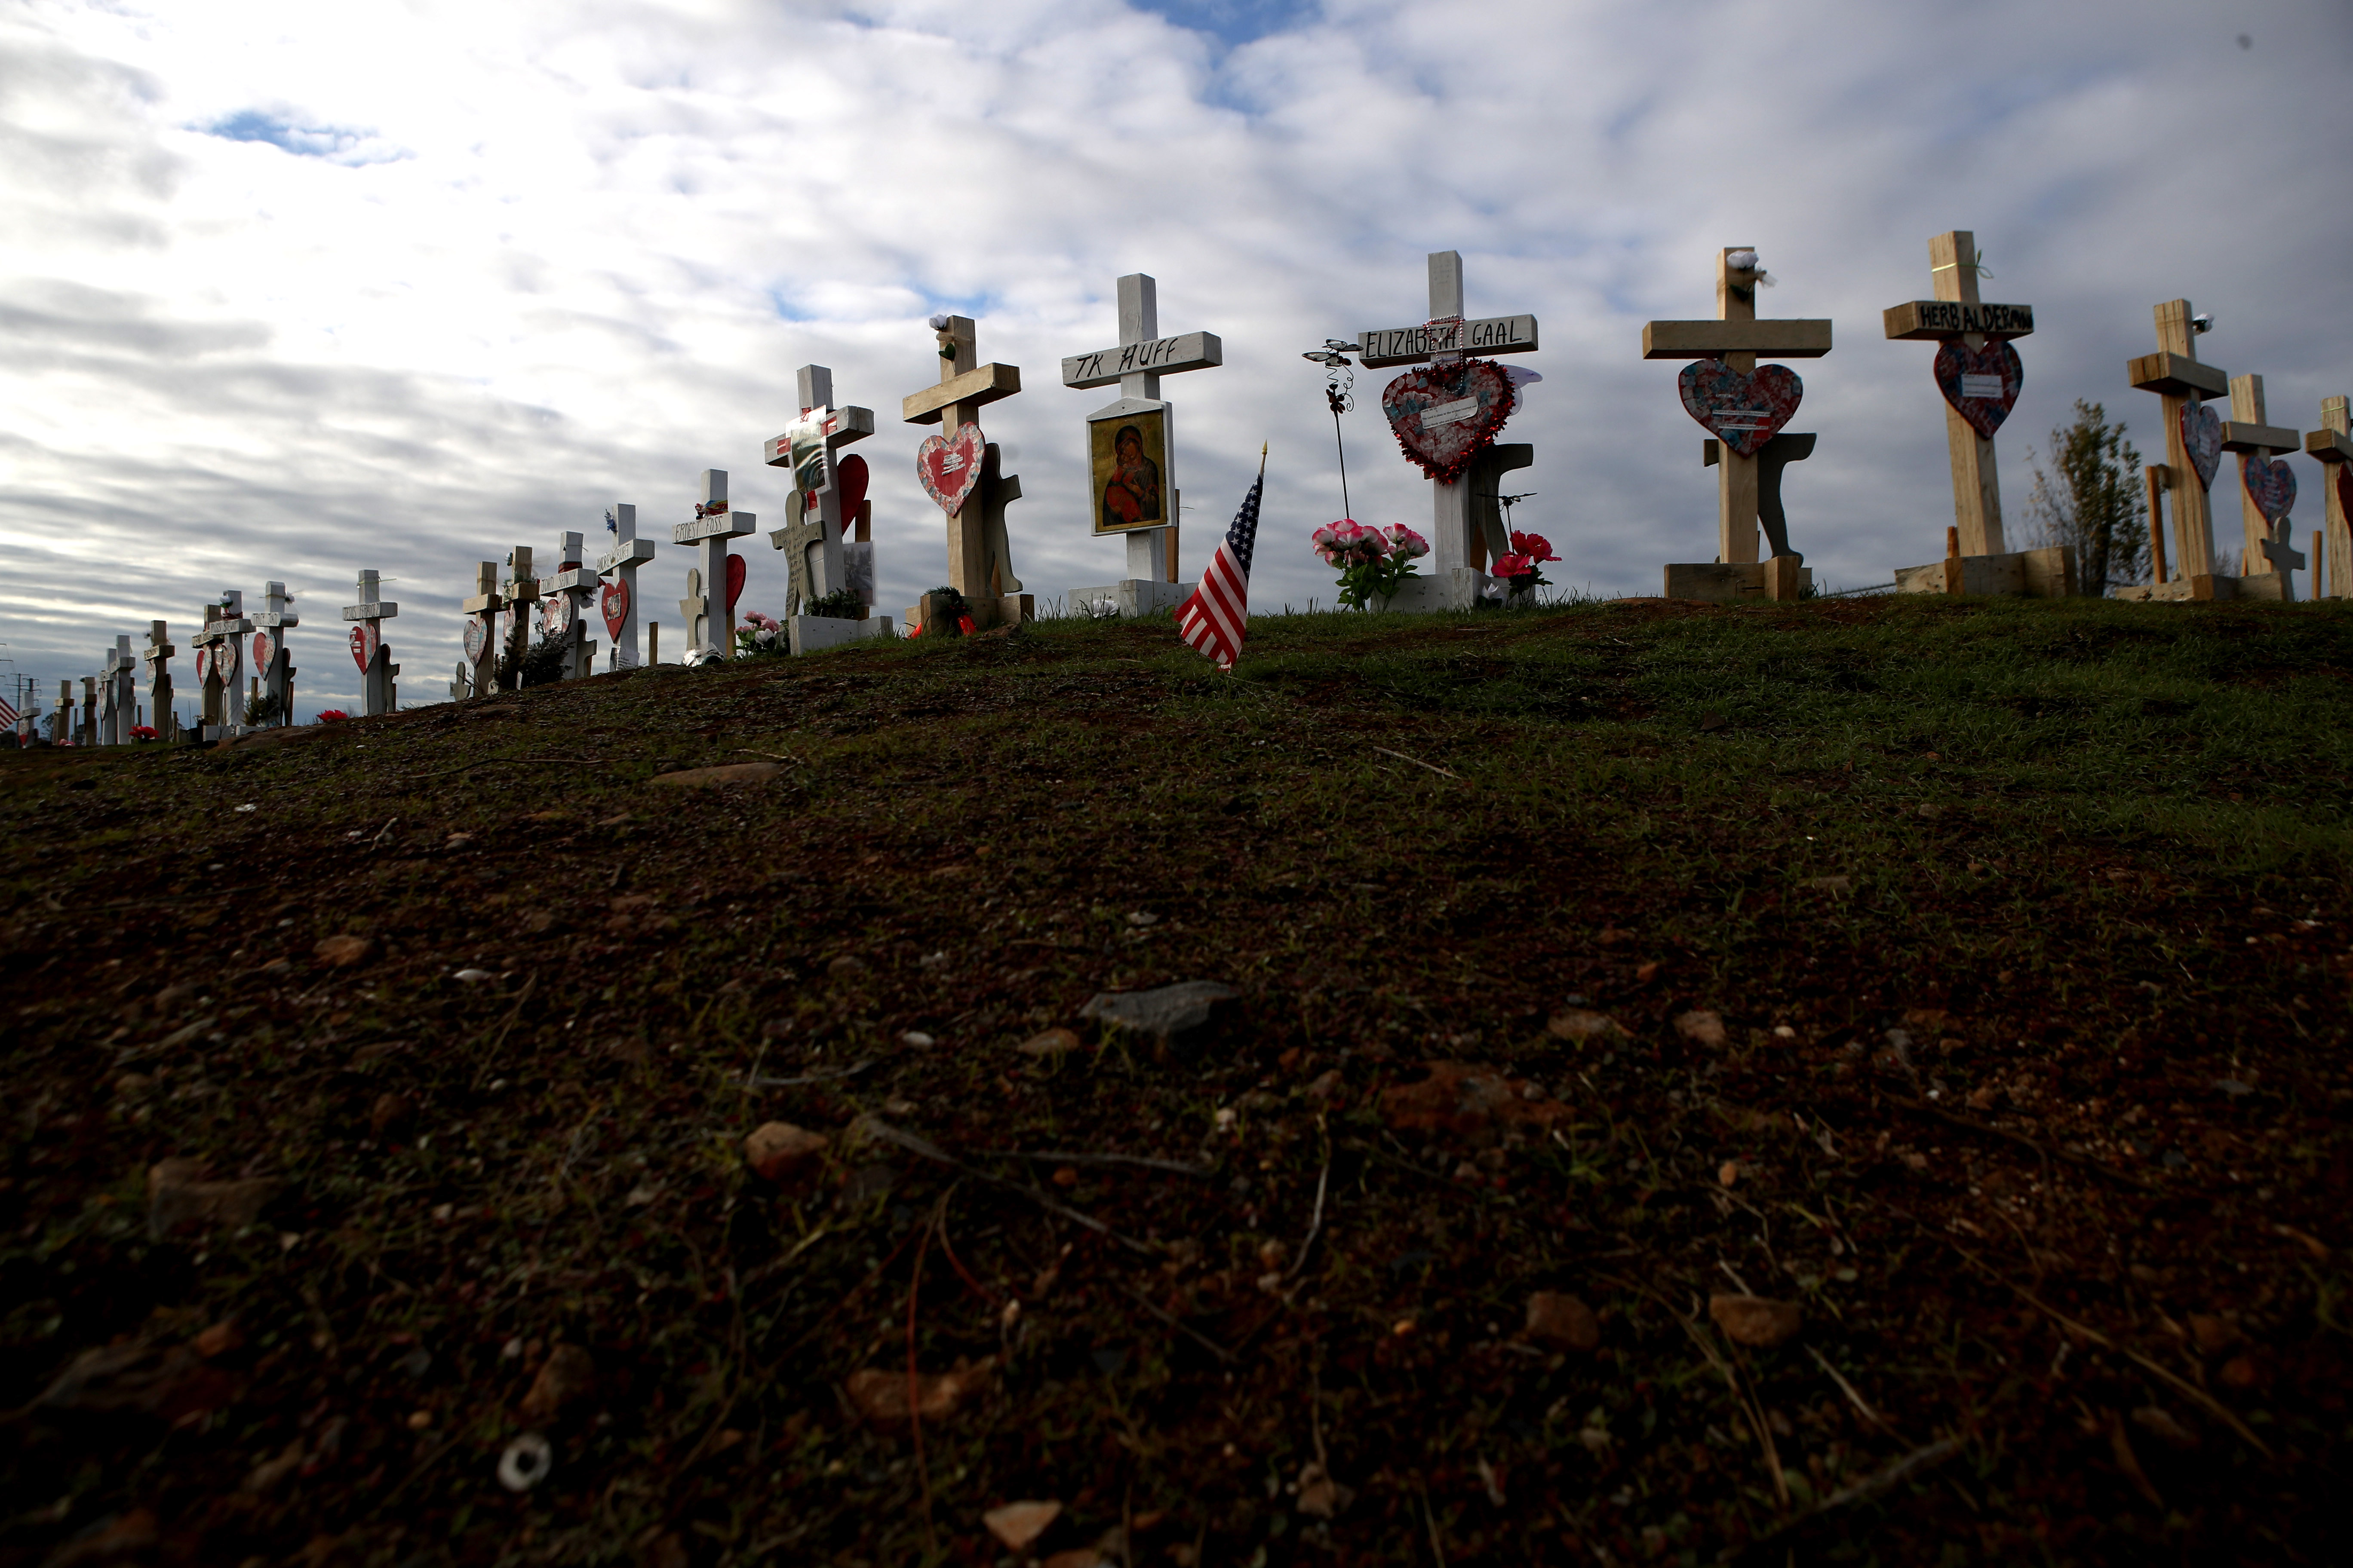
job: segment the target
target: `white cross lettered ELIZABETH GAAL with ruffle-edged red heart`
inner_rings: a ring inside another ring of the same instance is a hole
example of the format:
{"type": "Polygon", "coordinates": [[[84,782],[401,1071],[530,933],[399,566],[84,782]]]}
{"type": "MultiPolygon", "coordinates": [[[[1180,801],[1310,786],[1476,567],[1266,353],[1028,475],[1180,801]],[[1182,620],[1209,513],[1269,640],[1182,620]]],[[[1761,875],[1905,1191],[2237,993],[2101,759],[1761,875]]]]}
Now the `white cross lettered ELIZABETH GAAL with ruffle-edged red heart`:
{"type": "Polygon", "coordinates": [[[1504,529],[1475,527],[1494,512],[1480,505],[1497,491],[1506,461],[1494,447],[1504,421],[1520,407],[1532,371],[1504,369],[1494,355],[1537,350],[1537,317],[1489,315],[1464,320],[1461,252],[1431,252],[1431,317],[1419,327],[1374,327],[1355,339],[1367,369],[1419,364],[1381,388],[1381,414],[1405,456],[1431,480],[1431,571],[1482,569],[1501,555],[1504,529]]]}

